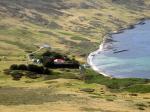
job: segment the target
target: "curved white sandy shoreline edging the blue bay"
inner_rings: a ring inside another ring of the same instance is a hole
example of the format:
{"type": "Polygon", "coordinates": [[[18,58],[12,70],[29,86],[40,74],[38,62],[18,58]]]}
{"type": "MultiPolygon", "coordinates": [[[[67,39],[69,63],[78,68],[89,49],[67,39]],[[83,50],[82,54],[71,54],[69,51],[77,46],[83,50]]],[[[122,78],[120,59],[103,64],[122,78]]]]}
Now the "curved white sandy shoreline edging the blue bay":
{"type": "MultiPolygon", "coordinates": [[[[91,67],[95,72],[97,72],[97,73],[99,73],[99,74],[101,74],[101,75],[103,75],[103,76],[105,76],[105,77],[120,78],[120,77],[114,77],[114,76],[112,76],[111,74],[107,74],[107,73],[102,72],[102,71],[101,71],[100,69],[98,69],[98,68],[96,67],[96,65],[93,63],[93,58],[94,58],[95,55],[100,54],[100,53],[103,51],[104,44],[107,43],[106,40],[107,40],[107,39],[112,39],[112,35],[113,35],[113,34],[120,34],[120,33],[124,33],[125,30],[134,29],[136,25],[143,25],[143,24],[145,24],[145,21],[146,21],[146,20],[148,20],[148,19],[142,18],[142,19],[140,19],[139,21],[135,22],[135,24],[128,25],[127,28],[122,28],[122,29],[120,29],[120,30],[118,30],[118,31],[113,31],[113,32],[111,32],[111,33],[107,33],[107,34],[104,36],[102,43],[99,45],[99,48],[98,48],[96,51],[91,52],[91,53],[88,55],[88,57],[87,57],[87,63],[90,65],[90,67],[91,67]]],[[[111,41],[113,41],[113,39],[112,39],[111,41]]]]}

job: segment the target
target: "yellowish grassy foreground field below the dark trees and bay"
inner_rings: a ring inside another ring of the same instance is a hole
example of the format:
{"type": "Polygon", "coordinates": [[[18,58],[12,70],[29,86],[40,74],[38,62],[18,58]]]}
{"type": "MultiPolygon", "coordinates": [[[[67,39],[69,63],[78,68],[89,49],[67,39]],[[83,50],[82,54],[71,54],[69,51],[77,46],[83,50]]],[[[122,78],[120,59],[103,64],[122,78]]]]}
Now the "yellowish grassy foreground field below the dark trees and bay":
{"type": "MultiPolygon", "coordinates": [[[[0,62],[1,112],[148,112],[150,80],[110,79],[87,69],[57,69],[38,79],[12,80],[0,62]],[[109,108],[108,108],[109,107],[109,108]]],[[[21,64],[24,61],[15,61],[21,64]]]]}

